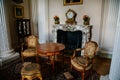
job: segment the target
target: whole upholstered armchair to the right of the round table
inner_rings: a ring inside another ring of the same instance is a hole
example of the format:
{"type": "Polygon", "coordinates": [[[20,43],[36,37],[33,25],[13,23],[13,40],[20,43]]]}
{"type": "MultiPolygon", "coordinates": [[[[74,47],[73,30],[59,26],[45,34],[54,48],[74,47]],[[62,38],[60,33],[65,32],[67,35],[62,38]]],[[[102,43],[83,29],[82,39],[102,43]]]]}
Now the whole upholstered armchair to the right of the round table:
{"type": "MultiPolygon", "coordinates": [[[[85,73],[90,72],[93,66],[93,59],[96,54],[98,45],[94,41],[86,42],[83,49],[78,48],[74,50],[74,54],[71,58],[71,69],[82,73],[82,80],[85,80],[85,73]],[[76,56],[77,51],[83,51],[83,56],[76,56]]],[[[92,72],[92,71],[91,71],[92,72]]]]}

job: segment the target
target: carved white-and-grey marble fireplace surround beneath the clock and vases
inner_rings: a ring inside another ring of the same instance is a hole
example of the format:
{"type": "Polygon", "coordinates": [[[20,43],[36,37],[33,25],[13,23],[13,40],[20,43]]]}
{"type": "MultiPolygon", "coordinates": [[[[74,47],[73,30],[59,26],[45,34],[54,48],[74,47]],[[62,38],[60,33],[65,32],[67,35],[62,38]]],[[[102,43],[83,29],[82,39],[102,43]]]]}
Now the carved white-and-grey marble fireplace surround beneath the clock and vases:
{"type": "Polygon", "coordinates": [[[92,33],[91,33],[92,25],[68,25],[68,24],[55,24],[53,25],[52,30],[52,39],[53,42],[57,42],[57,30],[64,31],[82,31],[82,47],[84,46],[86,41],[91,41],[92,33]]]}

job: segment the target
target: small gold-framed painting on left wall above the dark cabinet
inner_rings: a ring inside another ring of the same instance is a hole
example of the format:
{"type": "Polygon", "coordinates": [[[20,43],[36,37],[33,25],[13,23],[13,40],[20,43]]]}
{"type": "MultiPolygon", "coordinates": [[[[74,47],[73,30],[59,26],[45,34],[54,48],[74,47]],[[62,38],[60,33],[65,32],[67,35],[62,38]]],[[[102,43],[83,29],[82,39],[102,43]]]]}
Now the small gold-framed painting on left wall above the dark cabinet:
{"type": "Polygon", "coordinates": [[[14,16],[15,18],[24,18],[24,7],[14,6],[14,16]]]}

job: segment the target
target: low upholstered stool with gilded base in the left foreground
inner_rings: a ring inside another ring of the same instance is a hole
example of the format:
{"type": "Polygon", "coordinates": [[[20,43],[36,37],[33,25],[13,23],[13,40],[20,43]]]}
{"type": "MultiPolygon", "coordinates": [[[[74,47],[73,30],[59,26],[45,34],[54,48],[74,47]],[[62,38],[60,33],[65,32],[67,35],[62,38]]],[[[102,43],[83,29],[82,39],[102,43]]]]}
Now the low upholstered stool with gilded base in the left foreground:
{"type": "Polygon", "coordinates": [[[21,69],[21,76],[22,76],[22,80],[24,79],[32,80],[35,78],[39,78],[40,80],[42,80],[39,64],[25,62],[21,69]]]}

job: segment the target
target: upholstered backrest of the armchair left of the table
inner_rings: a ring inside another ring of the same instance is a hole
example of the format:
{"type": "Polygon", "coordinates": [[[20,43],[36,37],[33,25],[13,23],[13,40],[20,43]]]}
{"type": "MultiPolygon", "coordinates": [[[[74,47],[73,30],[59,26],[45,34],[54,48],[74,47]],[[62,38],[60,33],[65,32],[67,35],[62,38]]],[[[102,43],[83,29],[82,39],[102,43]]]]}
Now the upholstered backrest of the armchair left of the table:
{"type": "Polygon", "coordinates": [[[31,35],[27,37],[26,42],[29,48],[35,48],[38,44],[38,38],[34,35],[31,35]]]}

